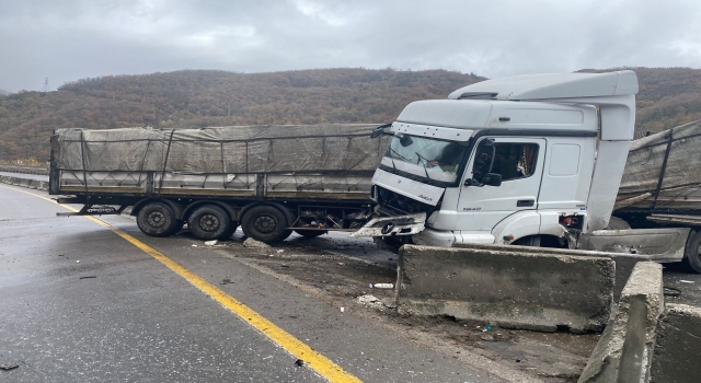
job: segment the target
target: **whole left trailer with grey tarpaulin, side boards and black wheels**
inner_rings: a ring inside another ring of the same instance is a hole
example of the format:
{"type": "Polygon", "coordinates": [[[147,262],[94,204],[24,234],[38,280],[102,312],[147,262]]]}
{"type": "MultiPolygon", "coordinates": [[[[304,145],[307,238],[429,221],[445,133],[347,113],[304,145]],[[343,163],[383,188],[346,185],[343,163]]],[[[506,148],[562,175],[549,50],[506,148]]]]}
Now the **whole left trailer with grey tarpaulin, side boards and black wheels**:
{"type": "Polygon", "coordinates": [[[375,125],[202,129],[59,129],[51,136],[49,194],[81,204],[60,216],[116,214],[168,236],[185,223],[199,240],[241,225],[266,243],[292,231],[353,231],[370,217],[371,177],[389,138],[375,125]]]}

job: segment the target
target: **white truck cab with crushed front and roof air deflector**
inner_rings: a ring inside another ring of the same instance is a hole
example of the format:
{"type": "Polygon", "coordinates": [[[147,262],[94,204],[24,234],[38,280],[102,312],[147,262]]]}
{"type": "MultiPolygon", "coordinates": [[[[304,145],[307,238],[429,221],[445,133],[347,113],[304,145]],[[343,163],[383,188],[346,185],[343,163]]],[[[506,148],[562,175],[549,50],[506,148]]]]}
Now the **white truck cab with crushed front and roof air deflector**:
{"type": "Polygon", "coordinates": [[[533,74],[414,102],[372,178],[376,218],[352,235],[575,248],[608,224],[636,93],[632,71],[533,74]]]}

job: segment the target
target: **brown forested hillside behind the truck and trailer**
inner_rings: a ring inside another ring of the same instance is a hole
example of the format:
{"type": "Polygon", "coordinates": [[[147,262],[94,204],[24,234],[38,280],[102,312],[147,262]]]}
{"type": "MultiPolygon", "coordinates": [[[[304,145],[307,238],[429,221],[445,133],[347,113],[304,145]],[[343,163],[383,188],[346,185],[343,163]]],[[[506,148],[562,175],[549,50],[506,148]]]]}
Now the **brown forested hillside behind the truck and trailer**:
{"type": "MultiPolygon", "coordinates": [[[[632,69],[641,83],[639,131],[701,119],[701,70],[632,69]]],[[[0,161],[45,160],[56,128],[389,123],[412,101],[445,98],[481,80],[445,70],[391,69],[184,70],[83,79],[49,93],[0,95],[0,161]]]]}

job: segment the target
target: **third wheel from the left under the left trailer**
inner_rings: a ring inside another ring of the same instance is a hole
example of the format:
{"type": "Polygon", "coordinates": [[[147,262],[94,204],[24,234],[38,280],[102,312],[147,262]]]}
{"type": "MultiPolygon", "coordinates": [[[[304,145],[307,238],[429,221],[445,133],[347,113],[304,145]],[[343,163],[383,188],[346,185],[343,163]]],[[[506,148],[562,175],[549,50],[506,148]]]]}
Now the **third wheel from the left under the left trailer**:
{"type": "Polygon", "coordinates": [[[288,237],[287,217],[269,205],[258,205],[246,211],[241,219],[241,229],[246,236],[265,243],[275,243],[288,237]]]}

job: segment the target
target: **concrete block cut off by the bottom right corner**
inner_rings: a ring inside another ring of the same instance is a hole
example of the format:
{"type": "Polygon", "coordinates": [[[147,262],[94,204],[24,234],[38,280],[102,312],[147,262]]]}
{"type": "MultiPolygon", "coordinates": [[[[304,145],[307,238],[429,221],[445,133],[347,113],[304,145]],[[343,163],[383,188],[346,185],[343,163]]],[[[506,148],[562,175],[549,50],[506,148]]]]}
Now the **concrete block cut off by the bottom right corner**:
{"type": "Polygon", "coordinates": [[[657,325],[651,371],[655,383],[701,380],[701,307],[668,304],[657,325]]]}

